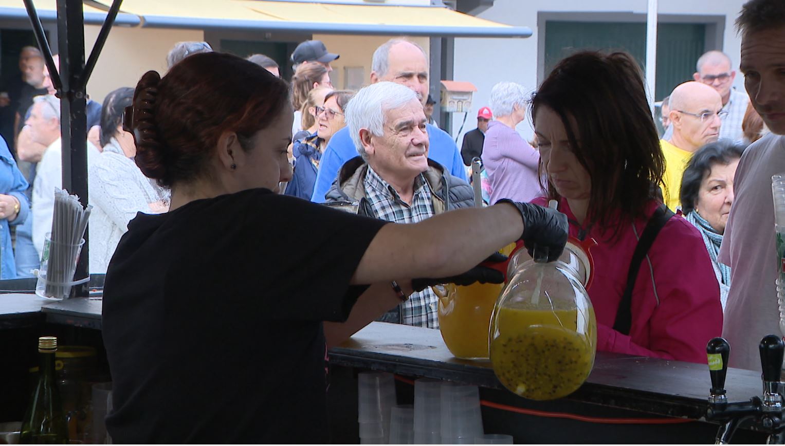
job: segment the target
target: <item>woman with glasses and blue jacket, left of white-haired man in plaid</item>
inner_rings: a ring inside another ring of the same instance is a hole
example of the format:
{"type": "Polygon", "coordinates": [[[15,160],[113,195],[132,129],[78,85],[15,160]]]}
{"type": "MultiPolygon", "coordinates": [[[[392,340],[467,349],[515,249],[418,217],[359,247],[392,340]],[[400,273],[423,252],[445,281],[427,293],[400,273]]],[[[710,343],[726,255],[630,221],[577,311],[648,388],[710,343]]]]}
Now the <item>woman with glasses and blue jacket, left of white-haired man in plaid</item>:
{"type": "Polygon", "coordinates": [[[324,97],[323,106],[316,106],[316,132],[294,141],[294,174],[287,185],[286,195],[311,199],[316,173],[319,172],[319,159],[330,138],[346,126],[343,112],[353,96],[351,90],[333,90],[324,97]]]}

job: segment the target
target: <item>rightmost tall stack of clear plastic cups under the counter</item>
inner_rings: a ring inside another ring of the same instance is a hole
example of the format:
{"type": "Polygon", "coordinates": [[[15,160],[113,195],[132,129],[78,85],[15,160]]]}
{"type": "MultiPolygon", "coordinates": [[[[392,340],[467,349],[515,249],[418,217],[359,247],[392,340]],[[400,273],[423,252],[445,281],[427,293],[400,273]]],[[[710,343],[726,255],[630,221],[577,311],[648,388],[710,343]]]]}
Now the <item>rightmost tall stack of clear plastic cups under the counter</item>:
{"type": "Polygon", "coordinates": [[[442,383],[441,413],[443,444],[474,444],[475,437],[484,433],[477,386],[442,383]]]}

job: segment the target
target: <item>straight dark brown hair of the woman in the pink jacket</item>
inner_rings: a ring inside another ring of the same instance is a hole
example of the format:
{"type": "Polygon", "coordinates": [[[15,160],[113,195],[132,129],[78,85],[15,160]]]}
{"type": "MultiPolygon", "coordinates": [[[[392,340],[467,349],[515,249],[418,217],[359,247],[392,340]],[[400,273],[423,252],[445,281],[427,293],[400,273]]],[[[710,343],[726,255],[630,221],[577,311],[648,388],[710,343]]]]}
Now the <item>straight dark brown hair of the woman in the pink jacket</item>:
{"type": "MultiPolygon", "coordinates": [[[[560,116],[575,157],[589,172],[586,225],[615,221],[618,235],[622,225],[645,218],[650,200],[658,199],[665,159],[633,57],[586,51],[561,60],[531,99],[532,119],[542,106],[560,116]],[[619,212],[622,218],[615,220],[619,212]]],[[[543,187],[549,198],[560,198],[550,181],[543,187]]]]}

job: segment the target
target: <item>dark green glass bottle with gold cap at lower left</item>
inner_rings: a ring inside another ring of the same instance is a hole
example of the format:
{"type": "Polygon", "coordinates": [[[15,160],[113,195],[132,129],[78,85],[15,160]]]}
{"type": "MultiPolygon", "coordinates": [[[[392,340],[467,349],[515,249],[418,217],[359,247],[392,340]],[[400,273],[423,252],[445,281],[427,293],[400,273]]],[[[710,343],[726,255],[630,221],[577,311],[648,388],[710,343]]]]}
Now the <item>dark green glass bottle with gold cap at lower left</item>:
{"type": "Polygon", "coordinates": [[[56,352],[57,338],[38,338],[38,384],[27,405],[20,444],[68,444],[68,424],[54,374],[56,352]]]}

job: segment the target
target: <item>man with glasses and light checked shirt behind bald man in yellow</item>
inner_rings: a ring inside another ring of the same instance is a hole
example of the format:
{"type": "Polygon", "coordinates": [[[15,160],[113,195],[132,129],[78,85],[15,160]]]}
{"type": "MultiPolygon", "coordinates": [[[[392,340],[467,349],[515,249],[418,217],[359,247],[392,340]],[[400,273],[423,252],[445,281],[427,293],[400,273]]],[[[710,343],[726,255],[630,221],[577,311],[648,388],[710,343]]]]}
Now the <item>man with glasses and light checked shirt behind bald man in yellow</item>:
{"type": "Polygon", "coordinates": [[[692,79],[711,86],[722,98],[722,111],[727,112],[722,119],[720,137],[739,141],[743,138],[741,128],[744,112],[750,98],[747,94],[732,88],[736,71],[732,68],[731,58],[721,51],[709,51],[698,59],[696,72],[692,79]]]}

